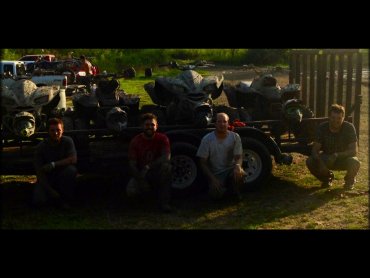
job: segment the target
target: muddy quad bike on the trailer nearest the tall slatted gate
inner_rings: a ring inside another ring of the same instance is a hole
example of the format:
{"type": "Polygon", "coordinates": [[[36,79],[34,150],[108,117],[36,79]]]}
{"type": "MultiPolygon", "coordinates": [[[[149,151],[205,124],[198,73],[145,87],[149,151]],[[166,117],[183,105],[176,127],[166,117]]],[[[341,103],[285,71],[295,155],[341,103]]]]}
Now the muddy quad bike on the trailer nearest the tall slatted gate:
{"type": "Polygon", "coordinates": [[[225,88],[230,106],[242,109],[251,121],[281,120],[283,124],[271,123],[269,127],[275,137],[291,130],[296,138],[303,136],[307,127],[302,122],[313,118],[314,113],[300,100],[299,84],[288,84],[280,88],[271,74],[263,74],[252,82],[240,82],[225,88]]]}

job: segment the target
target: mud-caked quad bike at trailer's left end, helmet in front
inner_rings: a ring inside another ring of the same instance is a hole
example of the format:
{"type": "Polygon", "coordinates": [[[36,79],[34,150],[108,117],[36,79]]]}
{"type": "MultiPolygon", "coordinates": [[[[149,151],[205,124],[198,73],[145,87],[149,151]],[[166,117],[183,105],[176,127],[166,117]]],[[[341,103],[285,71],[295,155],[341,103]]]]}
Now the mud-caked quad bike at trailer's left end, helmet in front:
{"type": "Polygon", "coordinates": [[[37,87],[28,79],[1,80],[2,137],[29,138],[45,131],[50,117],[62,117],[66,109],[64,89],[37,87]]]}

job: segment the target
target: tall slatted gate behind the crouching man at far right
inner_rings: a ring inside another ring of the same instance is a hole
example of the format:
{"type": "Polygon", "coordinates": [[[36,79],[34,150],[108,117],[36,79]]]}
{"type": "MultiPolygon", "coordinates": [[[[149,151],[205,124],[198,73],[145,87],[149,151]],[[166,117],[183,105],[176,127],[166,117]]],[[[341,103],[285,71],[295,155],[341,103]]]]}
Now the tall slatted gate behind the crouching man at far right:
{"type": "Polygon", "coordinates": [[[360,134],[362,54],[359,49],[292,50],[289,83],[301,85],[302,101],[316,117],[333,103],[346,108],[360,134]]]}

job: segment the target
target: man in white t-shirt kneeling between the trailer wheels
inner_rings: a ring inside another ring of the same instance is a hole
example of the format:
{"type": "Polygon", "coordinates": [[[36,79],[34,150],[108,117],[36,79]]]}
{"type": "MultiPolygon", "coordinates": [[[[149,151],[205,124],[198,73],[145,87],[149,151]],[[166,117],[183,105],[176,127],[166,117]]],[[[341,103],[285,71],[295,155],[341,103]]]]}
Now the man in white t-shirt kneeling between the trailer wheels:
{"type": "Polygon", "coordinates": [[[216,130],[203,137],[197,157],[208,179],[210,196],[220,199],[230,190],[240,200],[240,186],[245,176],[243,147],[239,134],[228,130],[228,127],[229,116],[218,113],[216,130]]]}

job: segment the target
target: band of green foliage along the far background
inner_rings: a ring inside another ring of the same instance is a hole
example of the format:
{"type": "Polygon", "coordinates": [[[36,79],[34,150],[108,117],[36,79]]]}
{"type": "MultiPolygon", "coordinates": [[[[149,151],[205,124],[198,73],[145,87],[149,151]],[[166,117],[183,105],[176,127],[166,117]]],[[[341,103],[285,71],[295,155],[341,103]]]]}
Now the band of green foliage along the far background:
{"type": "Polygon", "coordinates": [[[17,60],[32,53],[53,53],[58,59],[85,55],[103,71],[122,72],[128,67],[144,68],[170,61],[207,60],[217,64],[258,65],[286,63],[286,49],[3,49],[2,59],[17,60]]]}

